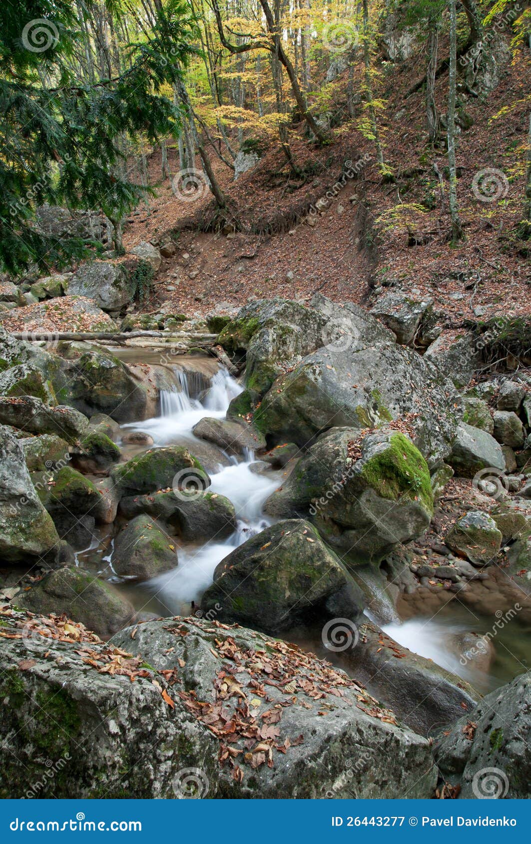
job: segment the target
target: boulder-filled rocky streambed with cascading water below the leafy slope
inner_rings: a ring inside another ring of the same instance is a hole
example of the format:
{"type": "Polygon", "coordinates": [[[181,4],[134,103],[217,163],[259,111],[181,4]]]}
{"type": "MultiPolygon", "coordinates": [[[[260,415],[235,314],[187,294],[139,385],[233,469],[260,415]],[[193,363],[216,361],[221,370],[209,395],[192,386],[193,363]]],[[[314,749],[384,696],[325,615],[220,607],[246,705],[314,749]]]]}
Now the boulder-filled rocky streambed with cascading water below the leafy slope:
{"type": "Polygon", "coordinates": [[[321,296],[223,322],[238,379],[0,337],[3,796],[526,796],[525,371],[321,296]]]}

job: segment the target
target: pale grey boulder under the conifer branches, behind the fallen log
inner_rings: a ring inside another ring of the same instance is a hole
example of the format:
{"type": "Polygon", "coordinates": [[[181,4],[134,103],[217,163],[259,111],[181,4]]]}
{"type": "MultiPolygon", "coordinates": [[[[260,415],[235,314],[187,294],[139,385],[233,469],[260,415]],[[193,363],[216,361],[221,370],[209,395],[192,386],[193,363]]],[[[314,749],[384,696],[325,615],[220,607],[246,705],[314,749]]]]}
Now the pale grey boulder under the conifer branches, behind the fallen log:
{"type": "Polygon", "coordinates": [[[103,311],[120,311],[136,293],[136,284],[126,262],[83,263],[68,281],[68,295],[95,300],[103,311]]]}

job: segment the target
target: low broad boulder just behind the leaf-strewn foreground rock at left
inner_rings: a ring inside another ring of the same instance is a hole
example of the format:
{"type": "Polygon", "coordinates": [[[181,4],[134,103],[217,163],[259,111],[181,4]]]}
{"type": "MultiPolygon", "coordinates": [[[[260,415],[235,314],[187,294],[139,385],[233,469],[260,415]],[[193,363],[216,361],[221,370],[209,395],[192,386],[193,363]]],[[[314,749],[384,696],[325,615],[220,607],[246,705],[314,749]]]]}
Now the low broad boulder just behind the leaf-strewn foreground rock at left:
{"type": "Polygon", "coordinates": [[[32,584],[18,603],[42,615],[64,613],[98,636],[111,636],[131,624],[135,615],[133,605],[109,583],[68,566],[32,584]]]}

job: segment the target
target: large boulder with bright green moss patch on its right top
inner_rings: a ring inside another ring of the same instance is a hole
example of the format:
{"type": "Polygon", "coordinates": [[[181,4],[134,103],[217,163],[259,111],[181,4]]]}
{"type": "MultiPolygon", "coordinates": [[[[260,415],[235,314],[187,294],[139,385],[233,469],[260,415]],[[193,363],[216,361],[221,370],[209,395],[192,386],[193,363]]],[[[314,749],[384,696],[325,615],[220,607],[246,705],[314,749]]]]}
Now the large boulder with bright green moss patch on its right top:
{"type": "Polygon", "coordinates": [[[360,440],[334,428],[301,457],[266,511],[309,517],[347,565],[380,562],[398,543],[420,536],[433,515],[424,457],[407,436],[381,430],[360,440]]]}

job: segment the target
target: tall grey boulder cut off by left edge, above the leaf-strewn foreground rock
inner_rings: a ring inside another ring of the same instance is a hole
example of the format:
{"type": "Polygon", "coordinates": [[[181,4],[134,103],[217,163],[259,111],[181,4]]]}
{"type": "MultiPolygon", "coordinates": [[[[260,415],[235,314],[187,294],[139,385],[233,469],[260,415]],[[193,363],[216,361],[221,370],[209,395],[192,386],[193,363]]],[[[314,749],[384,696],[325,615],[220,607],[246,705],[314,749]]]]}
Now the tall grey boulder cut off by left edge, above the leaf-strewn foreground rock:
{"type": "Polygon", "coordinates": [[[41,558],[52,561],[58,541],[31,483],[21,442],[0,425],[0,558],[27,566],[41,558]]]}

